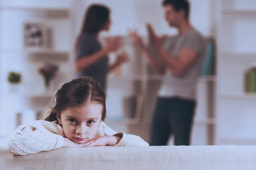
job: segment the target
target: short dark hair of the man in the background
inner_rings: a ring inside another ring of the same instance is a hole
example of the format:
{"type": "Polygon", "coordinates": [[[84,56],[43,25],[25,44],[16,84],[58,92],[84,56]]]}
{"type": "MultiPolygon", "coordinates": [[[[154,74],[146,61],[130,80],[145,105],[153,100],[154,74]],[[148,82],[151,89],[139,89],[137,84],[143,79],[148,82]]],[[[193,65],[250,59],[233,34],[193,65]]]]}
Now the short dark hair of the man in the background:
{"type": "Polygon", "coordinates": [[[189,19],[190,4],[187,0],[163,0],[163,6],[171,5],[175,11],[184,10],[186,20],[189,19]]]}

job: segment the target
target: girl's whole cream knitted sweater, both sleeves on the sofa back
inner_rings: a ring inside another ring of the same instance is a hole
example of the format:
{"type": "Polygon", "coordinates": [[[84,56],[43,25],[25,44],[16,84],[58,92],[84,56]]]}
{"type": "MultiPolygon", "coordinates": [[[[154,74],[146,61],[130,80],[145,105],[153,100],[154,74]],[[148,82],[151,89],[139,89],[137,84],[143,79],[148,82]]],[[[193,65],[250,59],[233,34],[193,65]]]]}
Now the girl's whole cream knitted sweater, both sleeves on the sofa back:
{"type": "MultiPolygon", "coordinates": [[[[114,146],[148,146],[139,136],[116,133],[104,122],[101,122],[95,137],[120,136],[122,139],[114,146]]],[[[9,153],[27,155],[41,151],[59,149],[64,143],[64,133],[57,121],[36,120],[28,125],[20,125],[6,140],[9,153]]]]}

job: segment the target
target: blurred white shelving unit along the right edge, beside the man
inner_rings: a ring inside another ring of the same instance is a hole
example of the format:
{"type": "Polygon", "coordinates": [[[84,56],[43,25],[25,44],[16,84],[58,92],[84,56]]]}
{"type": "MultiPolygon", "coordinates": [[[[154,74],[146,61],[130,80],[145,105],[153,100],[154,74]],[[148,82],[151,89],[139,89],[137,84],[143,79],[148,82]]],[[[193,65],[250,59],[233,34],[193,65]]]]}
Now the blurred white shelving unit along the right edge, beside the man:
{"type": "Polygon", "coordinates": [[[217,1],[216,145],[255,145],[255,94],[244,93],[256,66],[256,1],[217,1]]]}

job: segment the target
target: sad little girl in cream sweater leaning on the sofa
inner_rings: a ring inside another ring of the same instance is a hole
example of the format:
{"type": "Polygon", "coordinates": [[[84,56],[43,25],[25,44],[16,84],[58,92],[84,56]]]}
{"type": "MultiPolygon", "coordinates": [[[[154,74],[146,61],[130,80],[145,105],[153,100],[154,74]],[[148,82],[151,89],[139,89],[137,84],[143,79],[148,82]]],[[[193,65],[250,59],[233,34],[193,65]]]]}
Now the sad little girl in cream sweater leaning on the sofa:
{"type": "Polygon", "coordinates": [[[20,125],[6,145],[10,153],[27,155],[62,147],[148,146],[139,136],[116,133],[105,123],[105,93],[89,77],[65,83],[52,97],[40,120],[20,125]]]}

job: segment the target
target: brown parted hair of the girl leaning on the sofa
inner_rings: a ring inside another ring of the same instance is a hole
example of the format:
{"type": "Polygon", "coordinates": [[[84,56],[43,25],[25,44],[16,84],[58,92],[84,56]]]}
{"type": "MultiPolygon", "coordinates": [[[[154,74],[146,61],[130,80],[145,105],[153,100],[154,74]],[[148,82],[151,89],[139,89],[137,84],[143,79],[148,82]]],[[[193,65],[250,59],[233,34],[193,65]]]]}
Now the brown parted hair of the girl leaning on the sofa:
{"type": "Polygon", "coordinates": [[[84,107],[89,103],[102,105],[102,121],[106,118],[106,96],[99,84],[90,77],[80,77],[64,83],[52,97],[49,108],[41,114],[41,120],[57,120],[57,113],[68,108],[84,107]]]}

